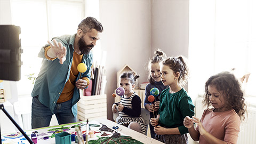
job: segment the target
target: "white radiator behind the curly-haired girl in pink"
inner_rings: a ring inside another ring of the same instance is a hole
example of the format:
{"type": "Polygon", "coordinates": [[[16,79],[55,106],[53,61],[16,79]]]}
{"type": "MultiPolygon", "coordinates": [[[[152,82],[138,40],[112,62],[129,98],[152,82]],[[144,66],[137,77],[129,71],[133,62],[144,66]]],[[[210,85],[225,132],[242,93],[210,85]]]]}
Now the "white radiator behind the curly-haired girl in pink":
{"type": "MultiPolygon", "coordinates": [[[[205,107],[203,107],[203,97],[196,99],[195,115],[202,117],[205,107]]],[[[247,107],[248,116],[241,122],[240,132],[238,134],[237,144],[255,144],[256,143],[256,106],[247,107]]]]}

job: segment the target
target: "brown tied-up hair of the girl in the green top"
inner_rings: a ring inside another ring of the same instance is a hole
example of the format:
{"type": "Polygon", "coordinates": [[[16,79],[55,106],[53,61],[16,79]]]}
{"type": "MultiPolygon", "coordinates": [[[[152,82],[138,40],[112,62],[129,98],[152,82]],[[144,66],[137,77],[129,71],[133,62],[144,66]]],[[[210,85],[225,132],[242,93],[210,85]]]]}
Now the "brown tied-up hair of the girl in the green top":
{"type": "Polygon", "coordinates": [[[178,82],[181,86],[185,86],[187,84],[189,78],[189,70],[185,57],[182,55],[173,58],[169,57],[163,61],[163,65],[168,66],[173,71],[174,75],[176,75],[177,72],[180,73],[178,82]]]}

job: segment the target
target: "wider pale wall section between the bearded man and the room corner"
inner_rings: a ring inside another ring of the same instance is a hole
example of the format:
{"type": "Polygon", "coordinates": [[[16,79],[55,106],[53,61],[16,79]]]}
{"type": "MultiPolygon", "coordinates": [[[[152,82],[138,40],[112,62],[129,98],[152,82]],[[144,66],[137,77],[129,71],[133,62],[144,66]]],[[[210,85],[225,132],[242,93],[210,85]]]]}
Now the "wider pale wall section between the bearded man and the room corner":
{"type": "Polygon", "coordinates": [[[107,51],[107,107],[108,119],[112,119],[111,106],[116,89],[116,73],[125,64],[145,82],[146,63],[151,53],[151,6],[150,1],[100,1],[100,21],[104,27],[101,49],[107,51]]]}

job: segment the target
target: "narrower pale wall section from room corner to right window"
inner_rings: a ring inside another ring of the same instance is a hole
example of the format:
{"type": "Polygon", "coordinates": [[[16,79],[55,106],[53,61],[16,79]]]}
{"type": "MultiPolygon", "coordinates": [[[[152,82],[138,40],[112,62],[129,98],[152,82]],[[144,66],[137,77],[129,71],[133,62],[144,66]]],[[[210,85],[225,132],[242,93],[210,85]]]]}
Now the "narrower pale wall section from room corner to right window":
{"type": "Polygon", "coordinates": [[[153,0],[151,13],[151,54],[159,48],[188,58],[189,0],[153,0]]]}

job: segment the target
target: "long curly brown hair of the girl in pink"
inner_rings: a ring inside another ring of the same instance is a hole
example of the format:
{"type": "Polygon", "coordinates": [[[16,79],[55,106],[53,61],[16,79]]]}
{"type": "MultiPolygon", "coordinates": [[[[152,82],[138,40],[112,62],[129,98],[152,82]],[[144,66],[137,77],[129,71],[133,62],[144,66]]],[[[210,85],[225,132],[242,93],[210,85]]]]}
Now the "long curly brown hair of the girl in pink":
{"type": "Polygon", "coordinates": [[[228,71],[223,71],[222,73],[211,76],[205,83],[205,98],[204,105],[210,106],[210,93],[208,86],[215,86],[218,91],[222,91],[226,99],[226,104],[228,107],[233,108],[237,115],[241,118],[245,118],[246,105],[244,103],[244,93],[241,89],[241,83],[238,79],[228,71]]]}

